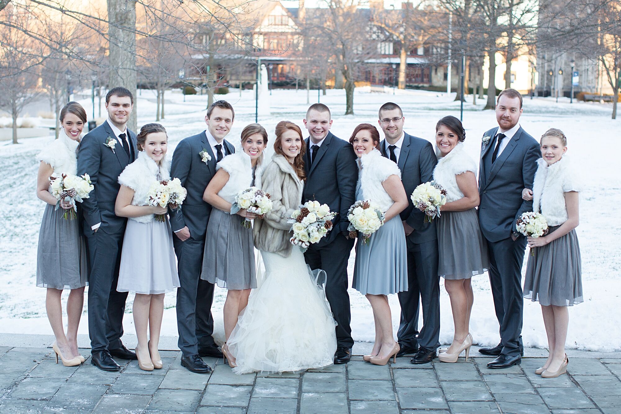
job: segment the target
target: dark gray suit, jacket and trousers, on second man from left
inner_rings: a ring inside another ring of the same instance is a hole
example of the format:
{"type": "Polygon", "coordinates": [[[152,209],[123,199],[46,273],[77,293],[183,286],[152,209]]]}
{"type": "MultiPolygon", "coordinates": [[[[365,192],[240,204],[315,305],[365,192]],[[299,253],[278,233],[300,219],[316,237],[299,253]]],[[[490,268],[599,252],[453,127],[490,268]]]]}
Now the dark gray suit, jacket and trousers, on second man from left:
{"type": "MultiPolygon", "coordinates": [[[[235,152],[235,148],[227,140],[222,143],[224,155],[235,152]]],[[[173,232],[186,226],[190,232],[185,241],[173,236],[181,285],[177,289],[179,349],[184,356],[198,354],[199,348],[214,345],[214,318],[211,315],[214,284],[202,280],[200,276],[207,222],[211,213],[211,205],[204,202],[202,195],[215,175],[215,160],[214,151],[207,141],[206,132],[203,131],[179,142],[170,168],[170,176],[178,178],[188,191],[181,209],[170,211],[173,232]],[[207,150],[211,156],[207,164],[199,155],[202,150],[207,150]]]]}

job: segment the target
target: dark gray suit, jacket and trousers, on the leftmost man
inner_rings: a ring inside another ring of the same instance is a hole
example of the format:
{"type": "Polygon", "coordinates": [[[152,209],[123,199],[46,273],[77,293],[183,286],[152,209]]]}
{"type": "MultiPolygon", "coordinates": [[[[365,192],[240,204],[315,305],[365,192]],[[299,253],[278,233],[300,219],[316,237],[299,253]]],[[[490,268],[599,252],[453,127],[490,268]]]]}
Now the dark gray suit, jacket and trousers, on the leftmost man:
{"type": "Polygon", "coordinates": [[[106,120],[83,138],[78,150],[78,175],[89,174],[93,192],[82,203],[84,234],[88,240],[91,270],[88,277],[88,331],[92,352],[120,348],[123,314],[127,292],[117,292],[120,252],[127,218],[114,214],[119,194],[119,175],[135,160],[138,148],[136,134],[127,128],[130,156],[116,143],[114,151],[106,146],[108,138],[116,139],[106,120]],[[97,232],[91,227],[101,223],[97,232]]]}

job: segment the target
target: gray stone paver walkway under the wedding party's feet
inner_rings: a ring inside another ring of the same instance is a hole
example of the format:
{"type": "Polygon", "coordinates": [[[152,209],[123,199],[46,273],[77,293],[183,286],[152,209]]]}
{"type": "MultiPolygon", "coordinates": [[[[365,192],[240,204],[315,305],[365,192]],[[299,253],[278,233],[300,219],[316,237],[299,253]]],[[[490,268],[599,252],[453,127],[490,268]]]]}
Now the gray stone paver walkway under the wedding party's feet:
{"type": "MultiPolygon", "coordinates": [[[[84,350],[84,356],[88,350],[84,350]]],[[[570,358],[568,375],[545,379],[544,359],[490,370],[490,358],[423,366],[399,358],[374,366],[356,356],[347,365],[302,374],[192,374],[178,351],[161,351],[163,369],[122,361],[119,372],[56,364],[52,349],[0,347],[0,413],[620,413],[621,358],[570,358]]],[[[435,360],[437,361],[437,360],[435,360]]]]}

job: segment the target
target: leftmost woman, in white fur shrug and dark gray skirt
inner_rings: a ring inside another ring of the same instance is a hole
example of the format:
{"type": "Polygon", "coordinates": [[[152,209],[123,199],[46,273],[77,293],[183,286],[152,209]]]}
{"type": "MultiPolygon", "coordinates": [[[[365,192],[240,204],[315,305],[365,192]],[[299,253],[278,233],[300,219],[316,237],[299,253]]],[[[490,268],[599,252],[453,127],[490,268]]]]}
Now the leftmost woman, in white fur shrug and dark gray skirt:
{"type": "Polygon", "coordinates": [[[50,178],[77,173],[76,150],[86,124],[86,112],[78,102],[69,102],[60,110],[61,130],[54,140],[37,155],[37,197],[47,203],[37,248],[37,286],[47,288],[45,308],[56,341],[52,348],[56,362],[60,356],[65,366],[84,362],[78,351],[78,325],[84,304],[84,286],[88,285],[86,241],[79,230],[79,220],[62,218],[73,205],[60,202],[50,192],[50,178]],[[60,295],[70,289],[67,300],[67,332],[63,327],[60,295]]]}

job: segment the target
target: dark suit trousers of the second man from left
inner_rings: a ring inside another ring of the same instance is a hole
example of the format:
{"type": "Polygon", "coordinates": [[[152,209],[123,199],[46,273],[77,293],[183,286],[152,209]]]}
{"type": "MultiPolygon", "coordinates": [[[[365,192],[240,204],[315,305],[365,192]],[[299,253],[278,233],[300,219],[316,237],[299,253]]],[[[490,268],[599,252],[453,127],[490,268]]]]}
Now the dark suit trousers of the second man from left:
{"type": "Polygon", "coordinates": [[[197,354],[199,348],[214,344],[214,317],[211,314],[214,284],[201,279],[204,236],[203,240],[189,237],[181,241],[173,235],[173,243],[180,285],[177,289],[178,345],[184,356],[190,356],[197,354]]]}

